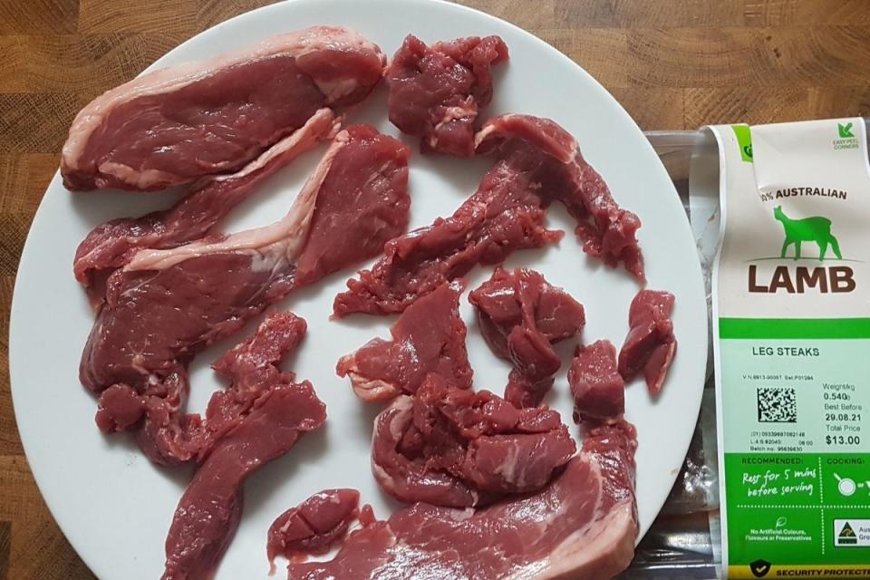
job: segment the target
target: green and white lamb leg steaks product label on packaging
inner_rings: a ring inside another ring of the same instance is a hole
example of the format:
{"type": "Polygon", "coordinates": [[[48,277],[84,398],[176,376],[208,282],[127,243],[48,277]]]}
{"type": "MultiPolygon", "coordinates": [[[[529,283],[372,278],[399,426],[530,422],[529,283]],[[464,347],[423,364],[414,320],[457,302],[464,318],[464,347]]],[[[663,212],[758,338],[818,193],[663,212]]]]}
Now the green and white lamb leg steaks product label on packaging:
{"type": "Polygon", "coordinates": [[[711,128],[732,578],[870,577],[870,168],[860,119],[711,128]]]}

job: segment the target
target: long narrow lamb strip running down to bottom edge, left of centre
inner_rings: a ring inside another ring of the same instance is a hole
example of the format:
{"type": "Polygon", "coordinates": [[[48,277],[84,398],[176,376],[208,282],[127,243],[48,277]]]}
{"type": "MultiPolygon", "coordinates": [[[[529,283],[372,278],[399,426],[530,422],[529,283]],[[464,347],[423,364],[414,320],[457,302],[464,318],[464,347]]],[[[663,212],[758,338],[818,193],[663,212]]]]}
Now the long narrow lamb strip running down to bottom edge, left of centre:
{"type": "Polygon", "coordinates": [[[292,374],[275,366],[298,343],[295,325],[287,324],[295,319],[289,313],[266,318],[251,339],[221,359],[234,382],[256,385],[262,394],[218,440],[181,497],[166,539],[163,580],[213,577],[242,515],[245,479],[324,424],[326,406],[311,383],[295,384],[292,374]]]}

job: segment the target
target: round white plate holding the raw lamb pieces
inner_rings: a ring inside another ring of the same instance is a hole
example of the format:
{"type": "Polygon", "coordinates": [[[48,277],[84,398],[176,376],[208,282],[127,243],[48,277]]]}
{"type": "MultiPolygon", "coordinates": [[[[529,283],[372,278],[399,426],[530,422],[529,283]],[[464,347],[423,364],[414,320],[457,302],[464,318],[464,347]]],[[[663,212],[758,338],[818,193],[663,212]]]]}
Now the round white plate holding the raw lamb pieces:
{"type": "MultiPolygon", "coordinates": [[[[673,321],[679,352],[662,396],[653,402],[640,382],[627,392],[627,418],[637,426],[637,499],[642,534],[662,507],[680,469],[701,401],[707,356],[706,307],[701,271],[690,229],[672,183],[652,148],[622,107],[580,67],[532,34],[474,10],[428,0],[297,0],[243,14],[199,34],[150,69],[201,59],[266,37],[312,24],[345,24],[391,54],[409,33],[424,41],[463,35],[501,35],[510,62],[496,75],[496,98],[487,112],[527,112],[551,117],[579,140],[614,197],[643,219],[640,242],[649,287],[677,296],[673,321]]],[[[150,70],[149,69],[149,70],[150,70]]],[[[386,121],[383,87],[349,121],[368,121],[397,134],[386,121]]],[[[412,143],[411,226],[448,215],[478,184],[491,160],[423,157],[412,143]]],[[[237,208],[227,231],[271,223],[282,216],[323,148],[275,175],[262,191],[237,208]]],[[[70,194],[55,176],[24,247],[15,285],[10,362],[15,416],[36,481],[63,532],[93,572],[110,580],[154,580],[163,568],[163,542],[181,491],[185,469],[155,468],[126,436],[103,436],[93,423],[96,404],[78,382],[82,345],[92,314],[73,280],[76,245],[107,218],[135,215],[167,205],[167,194],[70,194]]],[[[508,266],[533,266],[583,302],[588,324],[584,339],[621,344],[628,304],[638,290],[622,270],[587,258],[571,233],[572,220],[555,208],[550,227],[568,232],[559,247],[522,252],[508,266]]],[[[471,287],[491,268],[469,276],[471,287]]],[[[321,488],[362,491],[380,517],[396,507],[378,491],[369,470],[372,418],[378,406],[358,401],[346,380],[334,373],[336,360],[376,334],[386,335],[391,319],[354,316],[329,322],[333,296],[352,272],[288,296],[281,308],[304,316],[309,334],[286,363],[310,379],[326,402],[327,426],[306,435],[283,459],[262,469],[247,484],[245,514],[218,571],[218,580],[266,578],[266,529],[287,507],[321,488]]],[[[472,321],[463,297],[462,315],[472,321]]],[[[220,383],[208,369],[220,353],[244,335],[212,346],[192,367],[190,409],[205,407],[220,383]]],[[[572,345],[565,344],[568,355],[572,345]]],[[[476,324],[469,324],[469,357],[475,386],[501,393],[507,364],[496,360],[476,324]]],[[[571,420],[565,368],[548,401],[571,420]]],[[[574,430],[574,428],[572,428],[574,430]]]]}

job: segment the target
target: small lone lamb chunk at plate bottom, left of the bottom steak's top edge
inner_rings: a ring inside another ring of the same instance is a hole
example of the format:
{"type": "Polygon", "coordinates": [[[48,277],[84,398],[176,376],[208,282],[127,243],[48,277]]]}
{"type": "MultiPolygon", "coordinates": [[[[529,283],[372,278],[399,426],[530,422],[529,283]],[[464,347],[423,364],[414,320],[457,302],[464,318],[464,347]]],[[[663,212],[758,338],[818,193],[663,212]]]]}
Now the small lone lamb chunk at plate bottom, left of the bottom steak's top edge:
{"type": "Polygon", "coordinates": [[[359,503],[356,489],[324,489],[278,516],[269,527],[266,542],[272,572],[275,556],[304,560],[328,552],[347,534],[359,514],[359,503]]]}

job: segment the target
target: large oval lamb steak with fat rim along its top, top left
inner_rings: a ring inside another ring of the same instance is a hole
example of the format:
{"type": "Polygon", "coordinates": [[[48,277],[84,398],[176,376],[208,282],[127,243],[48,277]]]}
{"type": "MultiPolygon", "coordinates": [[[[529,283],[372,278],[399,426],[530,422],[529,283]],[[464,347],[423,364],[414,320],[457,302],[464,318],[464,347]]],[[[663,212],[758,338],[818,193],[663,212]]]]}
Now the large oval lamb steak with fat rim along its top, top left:
{"type": "Polygon", "coordinates": [[[314,26],[144,74],[76,116],[63,183],[147,191],[235,171],[318,109],[362,101],[385,64],[360,34],[314,26]]]}

